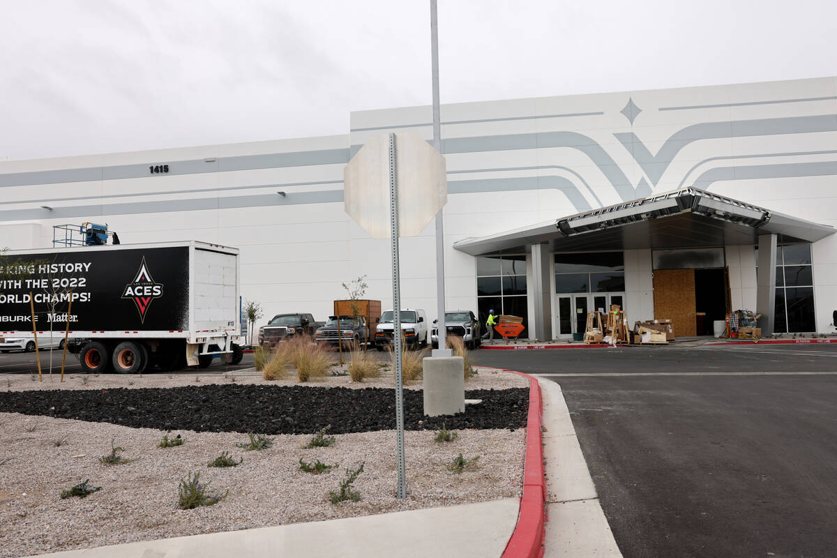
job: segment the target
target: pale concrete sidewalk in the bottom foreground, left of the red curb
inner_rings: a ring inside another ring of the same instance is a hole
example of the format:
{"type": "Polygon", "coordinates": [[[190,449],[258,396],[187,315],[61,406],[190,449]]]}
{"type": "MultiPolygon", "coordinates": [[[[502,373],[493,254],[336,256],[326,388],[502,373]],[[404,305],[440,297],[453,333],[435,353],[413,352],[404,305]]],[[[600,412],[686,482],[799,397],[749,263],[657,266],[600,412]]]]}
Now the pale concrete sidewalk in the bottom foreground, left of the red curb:
{"type": "Polygon", "coordinates": [[[40,555],[56,558],[485,558],[500,556],[520,500],[315,521],[40,555]]]}

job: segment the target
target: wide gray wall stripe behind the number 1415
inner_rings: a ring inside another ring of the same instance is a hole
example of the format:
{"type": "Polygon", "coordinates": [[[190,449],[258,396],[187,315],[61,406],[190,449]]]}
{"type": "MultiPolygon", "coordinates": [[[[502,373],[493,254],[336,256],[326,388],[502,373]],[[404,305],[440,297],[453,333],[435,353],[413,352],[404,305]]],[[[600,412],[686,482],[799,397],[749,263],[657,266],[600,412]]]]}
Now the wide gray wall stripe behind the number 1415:
{"type": "MultiPolygon", "coordinates": [[[[208,150],[211,151],[211,150],[208,150]]],[[[252,171],[287,166],[316,166],[345,164],[349,161],[348,149],[326,149],[320,151],[295,151],[268,155],[241,155],[217,157],[215,161],[193,159],[186,161],[148,161],[134,165],[95,166],[59,171],[28,171],[0,174],[0,187],[34,186],[64,182],[90,182],[124,178],[161,178],[206,172],[252,171]],[[166,174],[152,174],[149,166],[167,164],[166,174]]]]}

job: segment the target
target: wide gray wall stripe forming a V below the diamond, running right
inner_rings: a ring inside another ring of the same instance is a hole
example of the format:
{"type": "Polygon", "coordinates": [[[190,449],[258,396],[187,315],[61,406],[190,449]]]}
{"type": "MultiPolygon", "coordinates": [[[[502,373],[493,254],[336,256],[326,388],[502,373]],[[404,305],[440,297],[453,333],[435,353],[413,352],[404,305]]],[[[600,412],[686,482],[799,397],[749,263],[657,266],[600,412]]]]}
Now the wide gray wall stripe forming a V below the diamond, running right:
{"type": "MultiPolygon", "coordinates": [[[[698,140],[744,136],[783,136],[823,131],[837,131],[837,115],[790,116],[760,120],[706,122],[686,126],[665,141],[656,155],[651,155],[634,132],[614,134],[631,152],[651,184],[656,186],[681,149],[698,140]]],[[[597,163],[598,164],[598,163],[597,163]]],[[[624,199],[624,201],[629,201],[624,199]]]]}

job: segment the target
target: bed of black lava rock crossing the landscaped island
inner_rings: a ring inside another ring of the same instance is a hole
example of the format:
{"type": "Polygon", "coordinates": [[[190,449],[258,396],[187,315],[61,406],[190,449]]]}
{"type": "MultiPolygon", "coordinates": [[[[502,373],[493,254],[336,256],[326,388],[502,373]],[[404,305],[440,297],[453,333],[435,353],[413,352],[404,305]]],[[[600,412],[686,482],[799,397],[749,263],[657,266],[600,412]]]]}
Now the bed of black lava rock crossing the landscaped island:
{"type": "MultiPolygon", "coordinates": [[[[521,428],[529,390],[472,390],[465,412],[425,417],[420,390],[404,390],[404,428],[521,428]],[[419,421],[422,423],[419,424],[419,421]]],[[[380,387],[236,386],[0,392],[0,412],[197,432],[344,434],[395,428],[395,390],[380,387]]]]}

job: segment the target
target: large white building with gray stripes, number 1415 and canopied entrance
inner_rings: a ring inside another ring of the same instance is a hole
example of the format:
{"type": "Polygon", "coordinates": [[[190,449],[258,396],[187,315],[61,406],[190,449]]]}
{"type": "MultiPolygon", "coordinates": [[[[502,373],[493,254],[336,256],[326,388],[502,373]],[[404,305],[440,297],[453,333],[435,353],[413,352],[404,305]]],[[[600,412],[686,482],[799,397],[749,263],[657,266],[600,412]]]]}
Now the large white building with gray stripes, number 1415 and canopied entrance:
{"type": "MultiPolygon", "coordinates": [[[[521,315],[533,340],[583,332],[587,311],[611,304],[630,323],[671,319],[677,335],[738,309],[762,313],[765,334],[834,333],[837,78],[441,116],[447,309],[521,315]]],[[[0,247],[48,248],[54,225],[107,223],[122,243],[240,248],[241,293],[267,317],[321,320],[360,276],[391,307],[389,241],[344,212],[343,168],[377,134],[429,141],[431,110],[350,122],[341,136],[2,161],[0,247]]],[[[434,319],[433,223],[401,241],[401,274],[403,307],[434,319]]]]}

